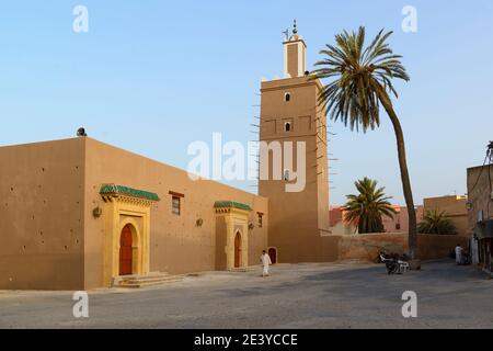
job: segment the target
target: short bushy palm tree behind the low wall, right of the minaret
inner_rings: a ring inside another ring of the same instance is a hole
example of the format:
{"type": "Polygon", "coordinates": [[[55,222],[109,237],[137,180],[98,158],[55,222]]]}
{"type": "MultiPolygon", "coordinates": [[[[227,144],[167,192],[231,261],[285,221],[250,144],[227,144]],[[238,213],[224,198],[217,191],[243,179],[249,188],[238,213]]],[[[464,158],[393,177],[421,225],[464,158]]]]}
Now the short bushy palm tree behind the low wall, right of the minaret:
{"type": "Polygon", "coordinates": [[[359,194],[346,195],[347,220],[358,226],[359,234],[383,233],[382,216],[392,218],[397,211],[386,196],[385,188],[377,189],[377,181],[365,177],[354,183],[359,194]]]}

